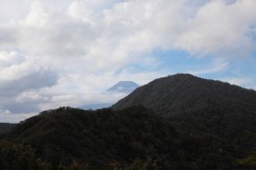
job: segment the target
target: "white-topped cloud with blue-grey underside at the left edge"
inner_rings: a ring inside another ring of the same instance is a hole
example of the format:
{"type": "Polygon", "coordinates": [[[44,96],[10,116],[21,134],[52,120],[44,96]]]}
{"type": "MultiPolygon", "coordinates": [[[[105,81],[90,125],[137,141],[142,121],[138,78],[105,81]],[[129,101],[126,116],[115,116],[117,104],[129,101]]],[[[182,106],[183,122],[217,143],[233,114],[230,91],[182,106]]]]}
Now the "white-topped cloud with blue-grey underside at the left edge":
{"type": "Polygon", "coordinates": [[[17,52],[0,52],[0,95],[17,95],[28,89],[55,85],[56,73],[17,52]]]}

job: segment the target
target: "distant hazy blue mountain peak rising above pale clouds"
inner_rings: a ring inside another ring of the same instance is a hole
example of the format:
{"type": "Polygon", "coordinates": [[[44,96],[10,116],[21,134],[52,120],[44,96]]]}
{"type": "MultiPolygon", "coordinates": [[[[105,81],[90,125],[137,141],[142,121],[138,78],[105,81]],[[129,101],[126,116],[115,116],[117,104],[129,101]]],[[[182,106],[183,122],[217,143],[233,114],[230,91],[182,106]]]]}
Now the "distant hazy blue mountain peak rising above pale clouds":
{"type": "Polygon", "coordinates": [[[140,85],[134,83],[133,81],[120,81],[117,84],[113,85],[111,88],[107,90],[110,93],[124,93],[130,94],[134,89],[139,87],[140,85]]]}

